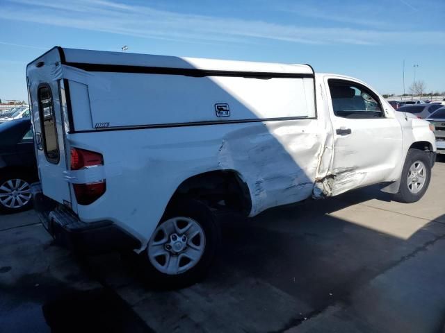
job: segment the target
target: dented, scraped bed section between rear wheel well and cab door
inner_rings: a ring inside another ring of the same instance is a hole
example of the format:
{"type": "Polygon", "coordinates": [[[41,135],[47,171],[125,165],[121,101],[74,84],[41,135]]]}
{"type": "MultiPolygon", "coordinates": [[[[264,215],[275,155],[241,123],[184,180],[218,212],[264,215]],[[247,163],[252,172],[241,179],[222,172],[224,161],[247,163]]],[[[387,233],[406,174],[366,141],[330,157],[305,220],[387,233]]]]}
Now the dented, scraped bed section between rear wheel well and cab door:
{"type": "Polygon", "coordinates": [[[241,174],[250,189],[254,216],[311,196],[324,142],[325,131],[316,119],[269,121],[227,133],[218,168],[241,174]]]}

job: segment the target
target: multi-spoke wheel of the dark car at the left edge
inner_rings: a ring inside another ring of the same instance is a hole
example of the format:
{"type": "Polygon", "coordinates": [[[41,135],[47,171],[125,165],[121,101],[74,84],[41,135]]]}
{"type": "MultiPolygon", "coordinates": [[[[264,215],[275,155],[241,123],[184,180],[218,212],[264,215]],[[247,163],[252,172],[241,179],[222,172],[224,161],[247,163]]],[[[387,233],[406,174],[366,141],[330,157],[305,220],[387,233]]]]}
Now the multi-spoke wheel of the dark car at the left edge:
{"type": "Polygon", "coordinates": [[[20,174],[8,173],[0,178],[0,211],[22,212],[31,208],[31,186],[20,174]]]}

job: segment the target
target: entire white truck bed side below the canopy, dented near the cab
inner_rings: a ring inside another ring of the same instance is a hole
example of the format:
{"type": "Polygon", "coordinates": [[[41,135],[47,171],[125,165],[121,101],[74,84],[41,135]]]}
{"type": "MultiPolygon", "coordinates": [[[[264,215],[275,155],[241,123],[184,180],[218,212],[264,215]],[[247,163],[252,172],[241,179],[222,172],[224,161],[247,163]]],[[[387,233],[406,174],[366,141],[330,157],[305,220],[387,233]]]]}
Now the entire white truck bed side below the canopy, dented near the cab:
{"type": "Polygon", "coordinates": [[[110,133],[68,137],[104,156],[106,193],[79,205],[78,214],[83,221],[115,222],[138,235],[143,248],[177,187],[200,173],[236,171],[250,191],[250,216],[308,198],[326,130],[317,119],[298,119],[110,133]]]}

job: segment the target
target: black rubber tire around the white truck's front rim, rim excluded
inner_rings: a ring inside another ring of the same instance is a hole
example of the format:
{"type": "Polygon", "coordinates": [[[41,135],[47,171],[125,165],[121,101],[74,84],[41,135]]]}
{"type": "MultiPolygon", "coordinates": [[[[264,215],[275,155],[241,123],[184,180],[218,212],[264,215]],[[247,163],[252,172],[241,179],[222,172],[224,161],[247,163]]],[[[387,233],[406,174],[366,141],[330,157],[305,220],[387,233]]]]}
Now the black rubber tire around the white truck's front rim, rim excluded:
{"type": "Polygon", "coordinates": [[[423,194],[426,193],[428,186],[430,185],[431,179],[431,162],[428,157],[428,153],[426,151],[421,151],[419,149],[410,149],[407,153],[405,164],[403,165],[403,171],[401,176],[401,185],[398,189],[398,192],[394,195],[394,200],[399,201],[401,203],[414,203],[419,201],[423,194]],[[417,193],[413,193],[408,188],[408,175],[410,172],[410,167],[414,162],[420,161],[425,165],[426,175],[425,182],[423,187],[417,193]]]}

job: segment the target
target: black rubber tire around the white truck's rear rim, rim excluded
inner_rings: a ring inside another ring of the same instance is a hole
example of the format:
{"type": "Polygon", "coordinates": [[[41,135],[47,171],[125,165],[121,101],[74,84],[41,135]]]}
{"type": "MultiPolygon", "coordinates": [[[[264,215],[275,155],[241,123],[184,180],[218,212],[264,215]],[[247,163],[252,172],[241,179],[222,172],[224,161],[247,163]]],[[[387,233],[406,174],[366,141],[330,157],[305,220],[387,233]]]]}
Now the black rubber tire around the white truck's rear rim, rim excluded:
{"type": "MultiPolygon", "coordinates": [[[[207,205],[194,199],[180,200],[171,205],[168,212],[165,212],[158,227],[177,216],[190,218],[199,223],[205,237],[204,253],[202,253],[197,264],[189,268],[188,271],[177,275],[169,275],[159,271],[152,262],[150,262],[149,246],[147,246],[147,248],[138,255],[138,266],[143,268],[145,280],[147,280],[149,284],[154,285],[154,287],[161,289],[184,288],[199,282],[209,270],[209,266],[211,262],[213,262],[220,245],[220,228],[207,205]]],[[[154,237],[155,233],[152,235],[150,241],[152,241],[154,237]]]]}

